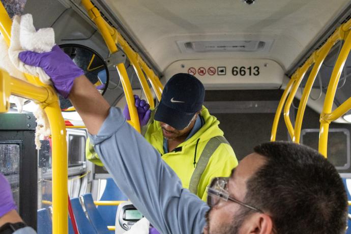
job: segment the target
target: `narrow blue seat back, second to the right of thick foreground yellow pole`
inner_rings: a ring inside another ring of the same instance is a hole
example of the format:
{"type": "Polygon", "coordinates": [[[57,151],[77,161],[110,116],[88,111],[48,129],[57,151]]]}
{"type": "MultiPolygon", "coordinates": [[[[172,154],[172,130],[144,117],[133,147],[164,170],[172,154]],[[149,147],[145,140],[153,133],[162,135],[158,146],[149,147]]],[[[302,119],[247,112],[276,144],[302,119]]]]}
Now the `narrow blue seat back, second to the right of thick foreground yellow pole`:
{"type": "Polygon", "coordinates": [[[96,209],[92,194],[91,193],[84,194],[82,195],[82,198],[83,198],[86,213],[88,214],[89,219],[92,222],[93,226],[95,227],[95,230],[97,231],[97,233],[109,234],[110,231],[107,229],[107,224],[105,220],[103,220],[98,209],[96,209]]]}

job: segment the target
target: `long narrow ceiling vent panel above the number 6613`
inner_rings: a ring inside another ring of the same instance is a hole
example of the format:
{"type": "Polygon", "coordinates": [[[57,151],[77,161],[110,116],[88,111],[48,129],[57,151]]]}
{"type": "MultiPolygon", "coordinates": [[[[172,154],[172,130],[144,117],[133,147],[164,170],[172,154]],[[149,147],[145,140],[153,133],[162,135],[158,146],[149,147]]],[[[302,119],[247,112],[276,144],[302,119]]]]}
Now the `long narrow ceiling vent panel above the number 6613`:
{"type": "Polygon", "coordinates": [[[267,41],[178,41],[183,53],[255,52],[269,50],[273,40],[267,41]]]}

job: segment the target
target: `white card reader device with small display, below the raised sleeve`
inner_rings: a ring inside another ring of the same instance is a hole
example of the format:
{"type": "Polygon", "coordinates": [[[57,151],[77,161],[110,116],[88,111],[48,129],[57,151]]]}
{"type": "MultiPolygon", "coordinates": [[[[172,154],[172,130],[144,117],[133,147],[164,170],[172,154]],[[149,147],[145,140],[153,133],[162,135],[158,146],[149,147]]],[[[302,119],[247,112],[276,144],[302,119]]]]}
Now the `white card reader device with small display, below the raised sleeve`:
{"type": "Polygon", "coordinates": [[[143,215],[134,207],[132,202],[126,201],[119,204],[116,214],[115,233],[129,230],[143,215]]]}

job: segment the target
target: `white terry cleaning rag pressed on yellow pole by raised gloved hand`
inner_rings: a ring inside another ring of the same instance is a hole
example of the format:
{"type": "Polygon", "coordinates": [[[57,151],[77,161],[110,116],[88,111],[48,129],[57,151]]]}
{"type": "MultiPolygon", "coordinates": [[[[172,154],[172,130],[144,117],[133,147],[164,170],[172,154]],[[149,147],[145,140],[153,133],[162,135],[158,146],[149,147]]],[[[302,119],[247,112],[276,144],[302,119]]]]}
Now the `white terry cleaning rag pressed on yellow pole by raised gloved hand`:
{"type": "MultiPolygon", "coordinates": [[[[12,64],[21,72],[38,76],[43,83],[51,84],[50,77],[41,68],[24,64],[19,60],[18,54],[25,50],[38,53],[49,52],[54,45],[55,35],[53,28],[42,28],[36,31],[31,14],[15,16],[13,18],[9,57],[12,64]]],[[[40,136],[49,136],[50,126],[47,115],[43,109],[38,107],[34,115],[37,119],[35,143],[36,148],[39,150],[41,147],[40,136]]]]}

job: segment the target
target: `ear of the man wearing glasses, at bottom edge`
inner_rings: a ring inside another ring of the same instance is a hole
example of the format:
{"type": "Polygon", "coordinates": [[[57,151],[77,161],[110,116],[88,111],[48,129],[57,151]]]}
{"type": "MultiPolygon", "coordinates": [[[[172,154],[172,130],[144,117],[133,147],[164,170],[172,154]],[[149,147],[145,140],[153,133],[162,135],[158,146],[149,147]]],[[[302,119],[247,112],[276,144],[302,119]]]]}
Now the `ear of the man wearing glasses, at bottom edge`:
{"type": "Polygon", "coordinates": [[[245,221],[247,232],[250,234],[271,234],[273,232],[272,218],[267,214],[255,213],[245,221]]]}

